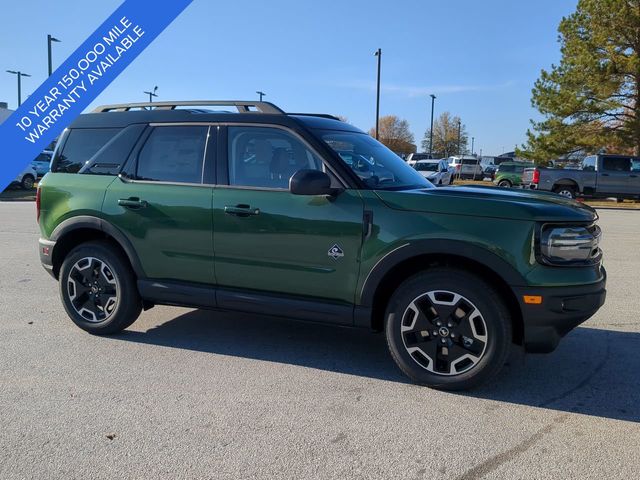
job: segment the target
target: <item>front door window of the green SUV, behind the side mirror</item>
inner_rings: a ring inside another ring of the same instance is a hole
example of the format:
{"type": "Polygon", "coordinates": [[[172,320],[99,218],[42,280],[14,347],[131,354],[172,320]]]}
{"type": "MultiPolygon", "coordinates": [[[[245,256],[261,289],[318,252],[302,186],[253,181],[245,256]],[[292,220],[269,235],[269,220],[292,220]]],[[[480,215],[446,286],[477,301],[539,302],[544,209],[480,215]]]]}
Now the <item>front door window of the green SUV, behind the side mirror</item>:
{"type": "Polygon", "coordinates": [[[229,127],[229,185],[289,188],[298,170],[322,170],[322,161],[296,136],[279,128],[229,127]]]}

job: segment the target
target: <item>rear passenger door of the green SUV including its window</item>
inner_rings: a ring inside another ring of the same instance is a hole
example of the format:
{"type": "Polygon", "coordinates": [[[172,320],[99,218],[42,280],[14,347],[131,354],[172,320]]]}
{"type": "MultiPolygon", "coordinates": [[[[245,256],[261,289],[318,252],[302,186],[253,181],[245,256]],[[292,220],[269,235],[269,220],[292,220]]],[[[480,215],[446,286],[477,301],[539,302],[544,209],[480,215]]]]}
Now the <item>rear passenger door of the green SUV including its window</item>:
{"type": "Polygon", "coordinates": [[[217,127],[155,125],[109,186],[105,219],[150,279],[215,283],[213,171],[217,127]]]}

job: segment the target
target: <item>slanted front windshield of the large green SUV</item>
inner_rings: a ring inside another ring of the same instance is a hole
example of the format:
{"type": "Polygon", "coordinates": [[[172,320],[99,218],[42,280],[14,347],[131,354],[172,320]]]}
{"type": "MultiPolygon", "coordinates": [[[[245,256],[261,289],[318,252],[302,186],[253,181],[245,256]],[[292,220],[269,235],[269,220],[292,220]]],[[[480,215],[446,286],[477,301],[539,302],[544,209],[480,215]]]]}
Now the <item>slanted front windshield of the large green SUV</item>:
{"type": "Polygon", "coordinates": [[[411,190],[433,187],[431,182],[407,165],[398,155],[366,133],[337,130],[317,132],[370,188],[411,190]]]}

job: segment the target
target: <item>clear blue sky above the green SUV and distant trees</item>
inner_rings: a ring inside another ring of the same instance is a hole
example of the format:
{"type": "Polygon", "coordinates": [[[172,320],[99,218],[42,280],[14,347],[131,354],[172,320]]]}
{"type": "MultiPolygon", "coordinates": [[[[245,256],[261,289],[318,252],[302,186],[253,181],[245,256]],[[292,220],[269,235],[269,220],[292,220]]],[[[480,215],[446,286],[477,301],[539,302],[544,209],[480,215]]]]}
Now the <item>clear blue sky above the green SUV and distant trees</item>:
{"type": "MultiPolygon", "coordinates": [[[[0,101],[17,106],[120,1],[0,2],[0,101]]],[[[254,100],[262,90],[285,111],[343,115],[375,124],[376,49],[382,49],[380,114],[408,120],[416,143],[435,116],[459,115],[475,151],[499,155],[526,141],[531,88],[560,58],[557,27],[577,0],[194,0],[93,102],[254,100]]],[[[152,2],[150,2],[152,5],[152,2]]]]}

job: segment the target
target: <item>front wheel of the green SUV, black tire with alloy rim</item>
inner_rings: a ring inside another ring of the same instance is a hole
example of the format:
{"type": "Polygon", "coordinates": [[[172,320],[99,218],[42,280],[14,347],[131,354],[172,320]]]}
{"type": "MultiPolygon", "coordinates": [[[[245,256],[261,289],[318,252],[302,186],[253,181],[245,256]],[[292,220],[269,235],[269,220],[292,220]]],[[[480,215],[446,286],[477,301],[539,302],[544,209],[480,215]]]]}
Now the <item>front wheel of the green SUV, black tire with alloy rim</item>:
{"type": "Polygon", "coordinates": [[[467,390],[494,377],[509,354],[511,331],[511,317],[500,295],[482,278],[453,268],[433,268],[404,281],[385,314],[387,345],[400,370],[415,383],[440,390],[467,390]],[[451,306],[432,303],[429,295],[440,302],[456,301],[455,295],[461,298],[451,306]],[[419,304],[429,310],[412,320],[411,306],[419,304]],[[435,361],[429,352],[435,352],[435,361]]]}

